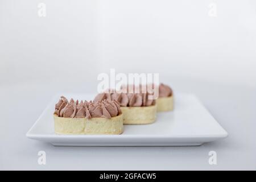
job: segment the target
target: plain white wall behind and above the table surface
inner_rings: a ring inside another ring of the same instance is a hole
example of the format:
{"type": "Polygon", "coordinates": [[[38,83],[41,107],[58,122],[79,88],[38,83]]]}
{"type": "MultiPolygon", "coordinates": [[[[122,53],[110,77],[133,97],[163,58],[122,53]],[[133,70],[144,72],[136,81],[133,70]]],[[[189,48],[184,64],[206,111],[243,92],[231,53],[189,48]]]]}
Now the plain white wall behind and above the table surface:
{"type": "Polygon", "coordinates": [[[255,1],[1,0],[0,39],[1,85],[86,84],[110,68],[256,85],[255,1]]]}

